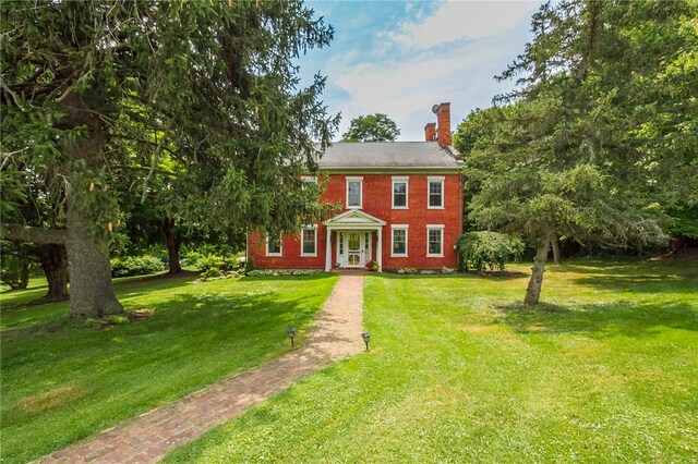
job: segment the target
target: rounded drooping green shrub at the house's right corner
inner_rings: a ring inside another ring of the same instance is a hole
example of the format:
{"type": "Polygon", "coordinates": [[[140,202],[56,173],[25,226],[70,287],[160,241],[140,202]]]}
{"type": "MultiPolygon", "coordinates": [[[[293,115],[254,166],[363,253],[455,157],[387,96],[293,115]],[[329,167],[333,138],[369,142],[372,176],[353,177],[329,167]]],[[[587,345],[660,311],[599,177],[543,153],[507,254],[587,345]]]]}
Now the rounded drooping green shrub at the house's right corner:
{"type": "Polygon", "coordinates": [[[520,239],[497,232],[468,232],[458,237],[460,260],[458,270],[504,270],[512,257],[521,258],[524,242],[520,239]]]}

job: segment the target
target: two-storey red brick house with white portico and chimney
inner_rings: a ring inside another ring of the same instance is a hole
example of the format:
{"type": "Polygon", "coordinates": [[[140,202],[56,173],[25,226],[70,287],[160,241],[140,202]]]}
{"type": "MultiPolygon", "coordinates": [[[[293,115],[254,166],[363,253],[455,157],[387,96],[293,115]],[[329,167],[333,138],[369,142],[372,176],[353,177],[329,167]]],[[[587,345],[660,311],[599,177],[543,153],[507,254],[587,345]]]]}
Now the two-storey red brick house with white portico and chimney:
{"type": "Polygon", "coordinates": [[[435,108],[438,127],[425,142],[338,143],[320,160],[327,186],[321,199],[341,212],[280,241],[248,237],[257,268],[455,268],[462,233],[462,178],[450,146],[449,103],[435,108]]]}

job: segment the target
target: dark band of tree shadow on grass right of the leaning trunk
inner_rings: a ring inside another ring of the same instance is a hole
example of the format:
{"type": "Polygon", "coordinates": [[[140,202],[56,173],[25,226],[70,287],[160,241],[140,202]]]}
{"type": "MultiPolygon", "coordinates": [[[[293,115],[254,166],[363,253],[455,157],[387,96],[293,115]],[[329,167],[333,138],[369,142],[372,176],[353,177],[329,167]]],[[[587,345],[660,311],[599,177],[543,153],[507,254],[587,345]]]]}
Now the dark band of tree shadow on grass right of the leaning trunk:
{"type": "Polygon", "coordinates": [[[654,337],[665,328],[698,331],[698,310],[689,303],[619,301],[575,306],[539,303],[535,307],[513,303],[497,309],[500,323],[525,334],[577,332],[603,339],[654,337]]]}

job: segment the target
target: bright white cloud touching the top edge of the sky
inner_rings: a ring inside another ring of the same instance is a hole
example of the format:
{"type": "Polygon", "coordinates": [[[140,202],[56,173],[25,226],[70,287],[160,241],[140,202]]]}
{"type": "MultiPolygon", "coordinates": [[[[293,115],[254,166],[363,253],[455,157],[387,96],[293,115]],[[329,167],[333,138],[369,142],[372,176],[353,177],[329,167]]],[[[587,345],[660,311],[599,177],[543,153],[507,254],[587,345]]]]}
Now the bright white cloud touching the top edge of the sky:
{"type": "Polygon", "coordinates": [[[537,7],[538,2],[530,1],[448,2],[424,21],[404,22],[398,32],[386,35],[404,48],[428,49],[462,39],[495,36],[519,24],[537,7]]]}

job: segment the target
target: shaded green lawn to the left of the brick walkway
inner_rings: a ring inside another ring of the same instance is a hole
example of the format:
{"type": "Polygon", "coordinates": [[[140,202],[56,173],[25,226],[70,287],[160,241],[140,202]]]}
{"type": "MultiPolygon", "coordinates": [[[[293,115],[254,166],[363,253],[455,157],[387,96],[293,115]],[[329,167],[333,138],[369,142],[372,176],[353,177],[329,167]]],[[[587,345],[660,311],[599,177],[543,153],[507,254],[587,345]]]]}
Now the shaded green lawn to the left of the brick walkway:
{"type": "Polygon", "coordinates": [[[68,302],[26,305],[45,289],[3,293],[2,450],[25,462],[198,390],[302,342],[336,277],[120,280],[129,312],[110,325],[67,321],[68,302]]]}

